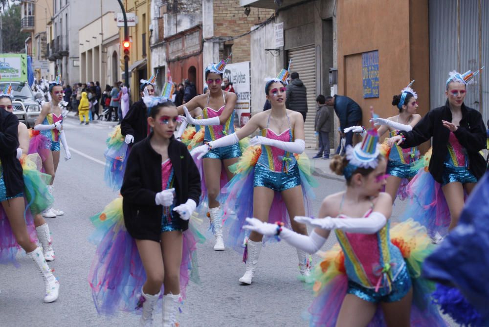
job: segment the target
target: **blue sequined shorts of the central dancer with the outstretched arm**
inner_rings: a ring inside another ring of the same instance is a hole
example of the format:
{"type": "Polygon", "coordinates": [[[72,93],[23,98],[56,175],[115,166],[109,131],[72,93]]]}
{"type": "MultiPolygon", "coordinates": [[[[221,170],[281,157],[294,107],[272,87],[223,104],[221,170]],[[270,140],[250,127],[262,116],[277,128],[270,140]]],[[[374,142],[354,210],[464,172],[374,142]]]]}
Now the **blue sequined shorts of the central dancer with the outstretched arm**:
{"type": "Polygon", "coordinates": [[[268,168],[256,164],[253,187],[264,186],[276,192],[282,192],[301,185],[299,166],[296,164],[288,173],[272,172],[268,168]]]}

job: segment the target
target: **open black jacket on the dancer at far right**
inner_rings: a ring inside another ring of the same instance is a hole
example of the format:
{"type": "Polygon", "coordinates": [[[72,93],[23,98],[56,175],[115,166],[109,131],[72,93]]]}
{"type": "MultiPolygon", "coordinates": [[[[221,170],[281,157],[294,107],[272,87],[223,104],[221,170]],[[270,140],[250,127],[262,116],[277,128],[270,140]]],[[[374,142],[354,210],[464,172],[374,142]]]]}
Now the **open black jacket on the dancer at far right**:
{"type": "MultiPolygon", "coordinates": [[[[443,126],[442,120],[452,121],[452,113],[448,107],[448,101],[445,106],[430,110],[412,131],[400,132],[406,138],[400,145],[402,148],[418,146],[433,137],[433,153],[428,169],[433,178],[439,183],[443,182],[443,163],[448,153],[447,143],[450,135],[450,131],[443,126]]],[[[477,179],[481,178],[486,172],[486,162],[479,151],[486,148],[487,138],[481,113],[462,104],[462,119],[454,134],[460,144],[467,150],[469,171],[477,179]]]]}

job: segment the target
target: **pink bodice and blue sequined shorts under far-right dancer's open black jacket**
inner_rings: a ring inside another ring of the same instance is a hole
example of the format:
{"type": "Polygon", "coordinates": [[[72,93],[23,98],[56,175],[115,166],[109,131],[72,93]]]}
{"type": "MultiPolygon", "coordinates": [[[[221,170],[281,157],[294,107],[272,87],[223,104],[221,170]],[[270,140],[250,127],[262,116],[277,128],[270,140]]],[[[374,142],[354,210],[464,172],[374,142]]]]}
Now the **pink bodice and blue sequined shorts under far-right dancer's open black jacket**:
{"type": "Polygon", "coordinates": [[[450,132],[447,147],[448,153],[443,163],[442,185],[453,182],[476,183],[477,178],[468,170],[467,151],[453,132],[450,132]]]}

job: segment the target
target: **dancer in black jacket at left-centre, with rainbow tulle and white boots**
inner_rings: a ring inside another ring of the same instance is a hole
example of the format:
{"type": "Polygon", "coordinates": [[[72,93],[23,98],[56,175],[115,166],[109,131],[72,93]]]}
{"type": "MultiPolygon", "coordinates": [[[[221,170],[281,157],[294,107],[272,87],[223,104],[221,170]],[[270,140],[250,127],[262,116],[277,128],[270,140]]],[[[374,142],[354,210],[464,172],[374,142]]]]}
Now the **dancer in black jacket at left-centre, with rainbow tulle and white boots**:
{"type": "Polygon", "coordinates": [[[90,240],[97,251],[89,283],[99,313],[142,308],[141,326],[151,326],[162,292],[163,326],[175,326],[189,279],[198,281],[194,252],[203,237],[189,218],[199,202],[200,175],[173,136],[178,117],[173,103],[151,96],[143,100],[152,132],[131,150],[124,199],[91,218],[96,230],[90,240]]]}

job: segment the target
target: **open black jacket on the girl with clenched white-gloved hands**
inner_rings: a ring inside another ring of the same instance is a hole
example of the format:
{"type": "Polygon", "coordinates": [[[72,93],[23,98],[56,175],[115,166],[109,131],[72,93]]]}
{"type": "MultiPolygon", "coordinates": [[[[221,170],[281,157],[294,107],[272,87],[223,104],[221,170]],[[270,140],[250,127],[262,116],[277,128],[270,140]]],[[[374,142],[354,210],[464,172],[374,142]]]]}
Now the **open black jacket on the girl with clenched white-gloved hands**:
{"type": "MultiPolygon", "coordinates": [[[[151,147],[152,135],[131,149],[121,195],[124,197],[122,209],[129,234],[136,240],[159,241],[163,207],[156,205],[155,196],[162,191],[161,155],[151,147]]],[[[187,202],[187,199],[199,204],[200,174],[187,147],[172,137],[168,156],[175,174],[176,205],[187,202]]],[[[183,230],[186,230],[188,220],[181,222],[183,230]]]]}

